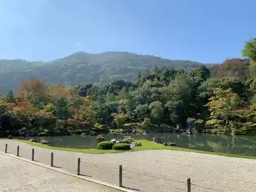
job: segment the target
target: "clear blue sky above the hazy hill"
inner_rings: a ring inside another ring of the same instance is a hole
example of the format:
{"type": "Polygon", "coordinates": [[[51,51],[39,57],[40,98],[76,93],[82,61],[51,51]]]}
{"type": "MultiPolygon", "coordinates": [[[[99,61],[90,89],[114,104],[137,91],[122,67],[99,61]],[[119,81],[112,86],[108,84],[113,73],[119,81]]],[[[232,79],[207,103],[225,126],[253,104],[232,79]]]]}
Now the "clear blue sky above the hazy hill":
{"type": "Polygon", "coordinates": [[[0,58],[128,51],[222,62],[256,37],[255,0],[0,0],[0,58]]]}

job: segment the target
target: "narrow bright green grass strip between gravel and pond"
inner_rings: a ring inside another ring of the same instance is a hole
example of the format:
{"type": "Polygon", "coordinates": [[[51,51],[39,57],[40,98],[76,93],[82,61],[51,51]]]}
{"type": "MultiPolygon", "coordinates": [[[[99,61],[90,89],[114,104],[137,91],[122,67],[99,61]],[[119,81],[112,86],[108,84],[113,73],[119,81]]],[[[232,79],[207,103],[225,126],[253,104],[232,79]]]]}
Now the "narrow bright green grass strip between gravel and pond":
{"type": "MultiPolygon", "coordinates": [[[[8,140],[8,139],[0,139],[0,140],[8,140]]],[[[84,154],[104,154],[104,153],[127,152],[127,151],[115,151],[115,150],[97,150],[94,148],[84,148],[84,149],[62,148],[62,147],[43,145],[40,143],[35,143],[35,142],[27,141],[27,140],[18,140],[18,139],[12,139],[12,140],[28,143],[30,145],[39,146],[39,147],[43,147],[43,148],[49,148],[52,150],[80,152],[80,153],[84,153],[84,154]]],[[[181,147],[175,147],[175,146],[164,146],[163,144],[158,144],[158,143],[155,143],[153,141],[148,141],[148,140],[136,140],[136,142],[141,142],[142,146],[137,146],[137,147],[133,148],[132,150],[130,150],[129,152],[141,151],[141,150],[174,150],[174,151],[201,153],[201,154],[220,155],[220,156],[226,156],[226,157],[256,159],[256,157],[243,156],[243,155],[239,155],[239,154],[224,154],[224,153],[217,153],[217,152],[205,152],[205,151],[199,151],[199,150],[191,150],[189,148],[181,148],[181,147]]]]}

